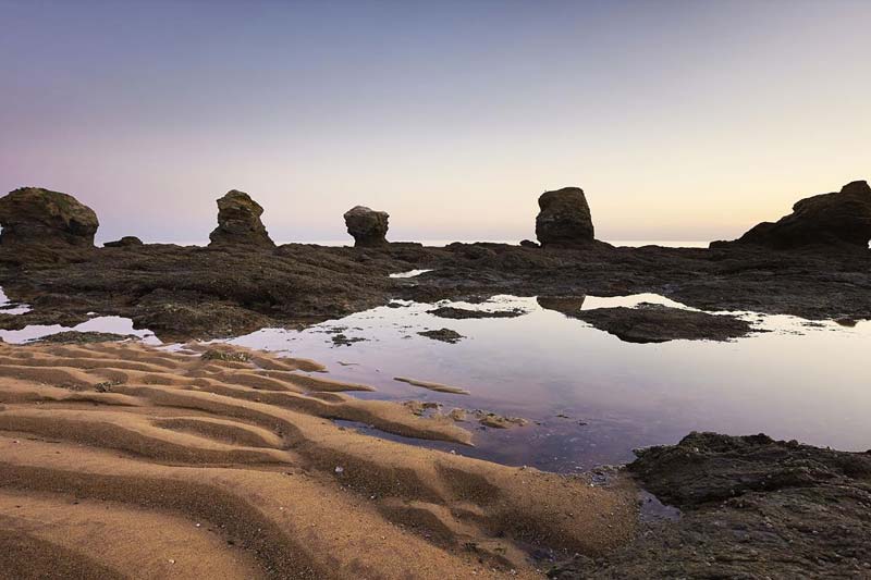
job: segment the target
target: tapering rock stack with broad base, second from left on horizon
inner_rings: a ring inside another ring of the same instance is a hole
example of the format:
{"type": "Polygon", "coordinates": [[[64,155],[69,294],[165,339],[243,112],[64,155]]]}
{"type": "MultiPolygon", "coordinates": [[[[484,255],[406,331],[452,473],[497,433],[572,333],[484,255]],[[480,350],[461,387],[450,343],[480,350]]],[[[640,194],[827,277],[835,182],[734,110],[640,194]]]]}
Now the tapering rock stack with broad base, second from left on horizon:
{"type": "Polygon", "coordinates": [[[263,208],[245,192],[232,189],[218,200],[218,227],[209,246],[274,247],[260,215],[263,208]]]}

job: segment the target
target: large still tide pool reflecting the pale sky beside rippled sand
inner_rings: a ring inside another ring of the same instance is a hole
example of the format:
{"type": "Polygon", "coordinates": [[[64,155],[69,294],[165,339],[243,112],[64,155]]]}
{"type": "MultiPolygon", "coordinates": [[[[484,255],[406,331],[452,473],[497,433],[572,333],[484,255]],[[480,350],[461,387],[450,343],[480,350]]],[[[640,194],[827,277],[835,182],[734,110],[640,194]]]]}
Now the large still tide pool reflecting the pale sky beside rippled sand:
{"type": "MultiPolygon", "coordinates": [[[[657,295],[574,300],[584,309],[683,307],[657,295]]],[[[377,387],[361,397],[430,400],[441,403],[444,412],[461,407],[529,419],[526,428],[508,431],[465,425],[476,432],[476,447],[458,453],[512,465],[573,471],[613,464],[630,459],[635,447],[675,443],[691,430],[765,432],[844,449],[871,446],[871,388],[862,379],[871,346],[868,322],[807,325],[795,317],[745,312],[738,314],[774,332],[728,343],[638,345],[542,308],[536,298],[392,306],[304,331],[266,329],[232,342],[312,358],[336,379],[377,387]],[[445,325],[427,313],[439,306],[528,313],[451,320],[450,328],[468,337],[452,345],[417,335],[445,325]],[[332,348],[322,328],[336,324],[361,329],[357,333],[368,341],[332,348]],[[470,394],[422,391],[394,377],[462,384],[470,394]]],[[[561,308],[569,306],[566,297],[561,308]]]]}

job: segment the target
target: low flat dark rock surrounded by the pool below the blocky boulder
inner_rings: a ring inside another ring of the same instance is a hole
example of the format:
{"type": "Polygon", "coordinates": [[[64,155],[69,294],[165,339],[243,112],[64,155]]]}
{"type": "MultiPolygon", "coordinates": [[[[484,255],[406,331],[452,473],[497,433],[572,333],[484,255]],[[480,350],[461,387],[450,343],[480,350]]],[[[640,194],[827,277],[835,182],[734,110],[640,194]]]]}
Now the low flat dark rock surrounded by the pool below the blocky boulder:
{"type": "Polygon", "coordinates": [[[627,343],[727,341],[752,332],[749,322],[729,314],[709,314],[655,304],[638,308],[594,308],[571,314],[627,343]]]}

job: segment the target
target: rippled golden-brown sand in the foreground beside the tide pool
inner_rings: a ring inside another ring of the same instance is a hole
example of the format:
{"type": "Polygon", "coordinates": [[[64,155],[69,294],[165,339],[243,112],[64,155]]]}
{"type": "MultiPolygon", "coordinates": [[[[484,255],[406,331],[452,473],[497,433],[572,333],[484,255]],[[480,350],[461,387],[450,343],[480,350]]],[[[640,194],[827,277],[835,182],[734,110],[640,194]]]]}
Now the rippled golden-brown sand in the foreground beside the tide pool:
{"type": "Polygon", "coordinates": [[[634,535],[629,486],[463,457],[449,417],[353,398],[309,360],[229,358],[0,344],[0,577],[536,578],[532,550],[634,535]]]}

